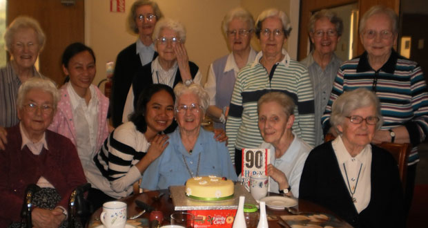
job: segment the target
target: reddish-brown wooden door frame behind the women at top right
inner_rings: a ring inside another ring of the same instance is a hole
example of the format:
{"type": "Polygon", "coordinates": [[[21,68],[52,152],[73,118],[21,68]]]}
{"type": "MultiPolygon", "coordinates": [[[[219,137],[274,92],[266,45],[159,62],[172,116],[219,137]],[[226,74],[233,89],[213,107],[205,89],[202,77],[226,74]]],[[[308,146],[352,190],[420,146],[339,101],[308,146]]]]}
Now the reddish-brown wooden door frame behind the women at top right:
{"type": "MultiPolygon", "coordinates": [[[[392,8],[397,15],[400,12],[400,0],[301,0],[300,1],[300,23],[299,23],[299,41],[298,41],[298,60],[307,57],[308,51],[308,23],[313,12],[318,10],[344,6],[351,3],[358,3],[359,17],[364,15],[369,8],[376,5],[383,5],[392,8]]],[[[357,55],[364,52],[364,47],[361,44],[358,36],[357,55]]]]}

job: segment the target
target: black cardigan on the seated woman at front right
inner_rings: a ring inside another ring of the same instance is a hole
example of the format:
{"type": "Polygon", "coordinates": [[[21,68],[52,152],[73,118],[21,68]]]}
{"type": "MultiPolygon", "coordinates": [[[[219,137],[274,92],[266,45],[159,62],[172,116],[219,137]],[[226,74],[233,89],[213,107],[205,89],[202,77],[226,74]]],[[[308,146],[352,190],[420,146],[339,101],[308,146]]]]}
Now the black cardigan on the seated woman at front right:
{"type": "Polygon", "coordinates": [[[388,151],[371,146],[371,197],[367,208],[359,214],[331,142],[321,144],[309,153],[300,179],[299,198],[326,207],[353,227],[405,227],[397,162],[388,151]]]}

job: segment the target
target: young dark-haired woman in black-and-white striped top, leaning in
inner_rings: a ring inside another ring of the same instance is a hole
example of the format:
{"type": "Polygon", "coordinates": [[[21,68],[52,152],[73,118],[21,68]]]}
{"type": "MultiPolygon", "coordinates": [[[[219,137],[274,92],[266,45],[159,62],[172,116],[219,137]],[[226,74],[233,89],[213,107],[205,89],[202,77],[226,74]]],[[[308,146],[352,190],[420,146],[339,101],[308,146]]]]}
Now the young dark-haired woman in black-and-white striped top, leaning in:
{"type": "Polygon", "coordinates": [[[168,146],[168,136],[159,133],[173,122],[174,101],[173,88],[152,84],[139,96],[130,121],[110,133],[94,158],[104,177],[92,198],[94,208],[133,193],[133,183],[142,178],[148,165],[168,146]]]}

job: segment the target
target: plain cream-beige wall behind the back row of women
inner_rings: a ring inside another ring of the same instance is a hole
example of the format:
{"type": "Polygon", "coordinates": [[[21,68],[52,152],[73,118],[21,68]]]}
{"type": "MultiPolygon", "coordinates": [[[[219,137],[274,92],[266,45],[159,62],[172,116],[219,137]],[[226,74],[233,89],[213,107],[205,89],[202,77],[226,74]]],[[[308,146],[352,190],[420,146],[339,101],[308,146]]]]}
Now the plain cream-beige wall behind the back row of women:
{"type": "MultiPolygon", "coordinates": [[[[134,0],[126,1],[126,12],[110,12],[110,1],[85,1],[85,43],[97,57],[94,84],[106,77],[106,62],[115,61],[120,50],[137,40],[126,29],[126,16],[134,0]]],[[[156,0],[166,17],[178,19],[187,30],[186,48],[191,61],[198,66],[203,82],[208,66],[214,59],[226,55],[228,48],[222,35],[221,23],[228,10],[242,6],[255,19],[266,8],[279,8],[291,18],[293,30],[286,48],[291,57],[297,56],[299,0],[156,0]]],[[[252,44],[258,46],[257,39],[252,44]]]]}

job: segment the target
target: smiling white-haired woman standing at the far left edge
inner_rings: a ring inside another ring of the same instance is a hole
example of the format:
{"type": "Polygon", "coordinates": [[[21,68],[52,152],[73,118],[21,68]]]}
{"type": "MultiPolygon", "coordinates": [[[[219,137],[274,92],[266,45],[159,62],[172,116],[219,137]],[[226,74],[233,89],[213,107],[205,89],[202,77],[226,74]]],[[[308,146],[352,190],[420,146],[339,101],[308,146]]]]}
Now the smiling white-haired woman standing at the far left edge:
{"type": "MultiPolygon", "coordinates": [[[[30,17],[17,17],[5,32],[6,50],[10,61],[0,69],[0,133],[2,127],[18,124],[16,109],[18,88],[31,77],[43,77],[35,62],[45,44],[45,34],[39,22],[30,17]]],[[[3,147],[0,138],[0,149],[3,147]]]]}

